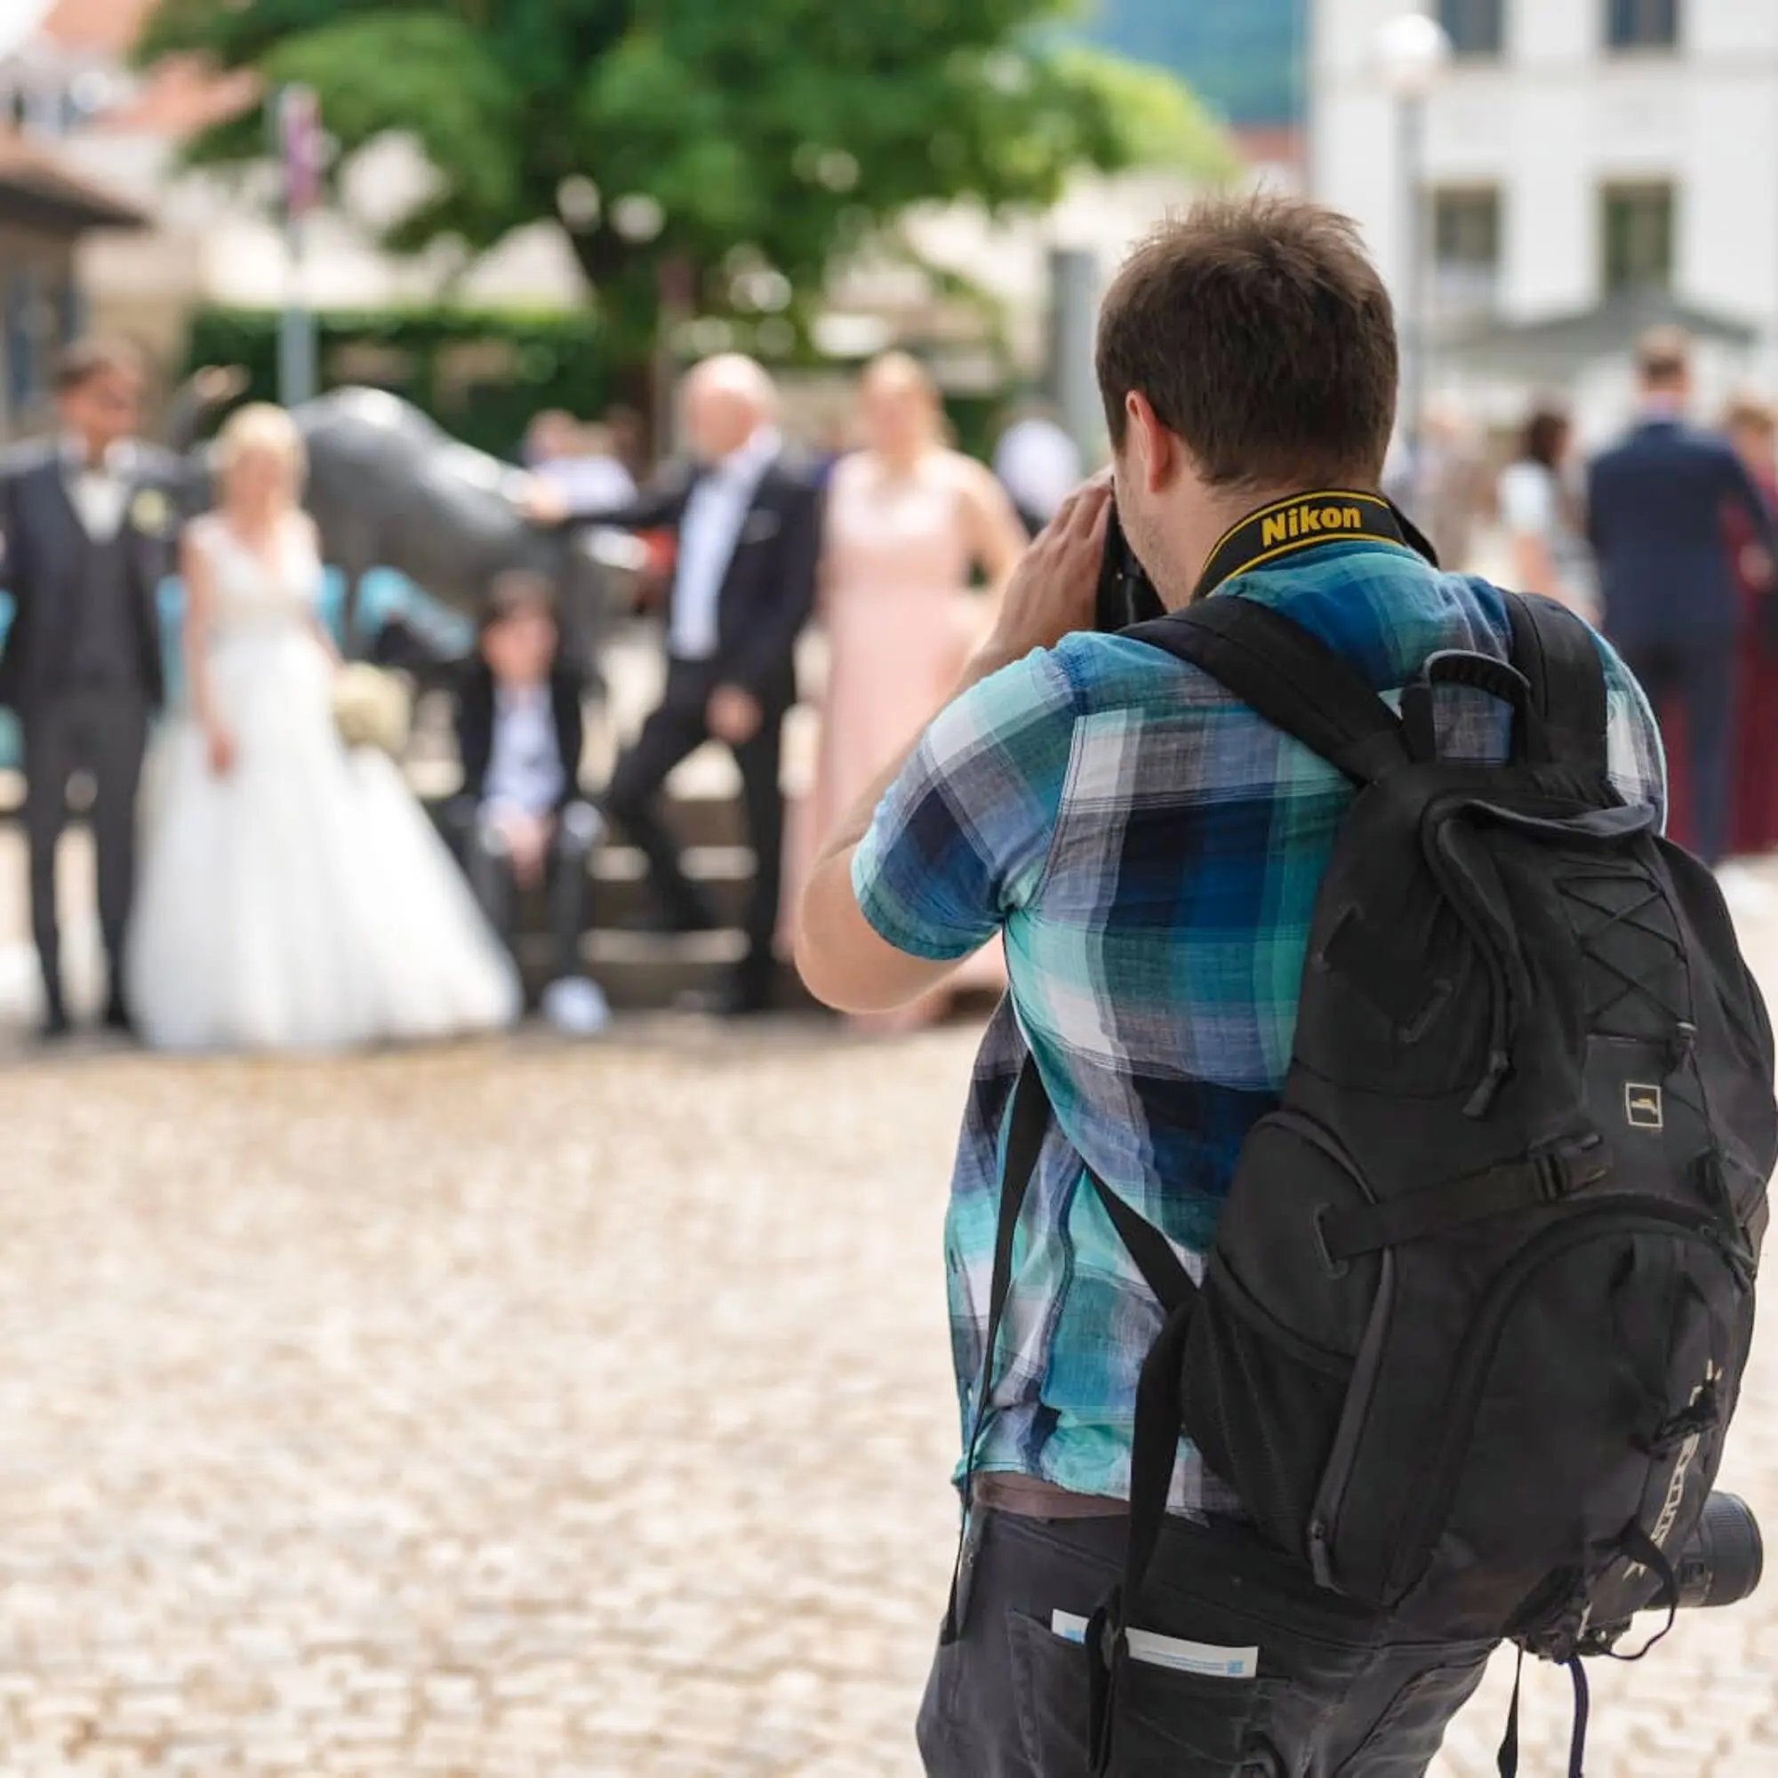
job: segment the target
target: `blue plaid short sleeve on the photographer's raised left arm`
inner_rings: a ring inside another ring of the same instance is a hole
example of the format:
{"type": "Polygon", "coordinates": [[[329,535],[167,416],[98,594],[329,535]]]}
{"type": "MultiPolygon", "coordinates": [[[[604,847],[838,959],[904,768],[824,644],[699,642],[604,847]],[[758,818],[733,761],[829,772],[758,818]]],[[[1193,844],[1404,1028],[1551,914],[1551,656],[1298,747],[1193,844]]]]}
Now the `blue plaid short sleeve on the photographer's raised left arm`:
{"type": "Polygon", "coordinates": [[[1074,745],[1076,693],[1038,649],[955,699],[852,861],[864,917],[909,957],[978,949],[1038,885],[1074,745]]]}

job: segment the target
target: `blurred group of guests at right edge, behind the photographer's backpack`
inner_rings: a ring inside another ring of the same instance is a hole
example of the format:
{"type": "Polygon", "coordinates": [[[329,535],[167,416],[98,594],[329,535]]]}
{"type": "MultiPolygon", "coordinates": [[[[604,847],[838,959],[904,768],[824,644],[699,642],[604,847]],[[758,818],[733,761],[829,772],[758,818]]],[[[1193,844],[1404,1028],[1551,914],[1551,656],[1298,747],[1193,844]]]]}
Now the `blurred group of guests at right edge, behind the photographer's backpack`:
{"type": "Polygon", "coordinates": [[[1494,541],[1499,580],[1604,629],[1661,720],[1670,829],[1718,864],[1778,848],[1778,414],[1748,393],[1698,416],[1691,356],[1673,329],[1641,340],[1638,411],[1590,459],[1540,402],[1494,473],[1435,407],[1392,493],[1447,567],[1494,541]]]}

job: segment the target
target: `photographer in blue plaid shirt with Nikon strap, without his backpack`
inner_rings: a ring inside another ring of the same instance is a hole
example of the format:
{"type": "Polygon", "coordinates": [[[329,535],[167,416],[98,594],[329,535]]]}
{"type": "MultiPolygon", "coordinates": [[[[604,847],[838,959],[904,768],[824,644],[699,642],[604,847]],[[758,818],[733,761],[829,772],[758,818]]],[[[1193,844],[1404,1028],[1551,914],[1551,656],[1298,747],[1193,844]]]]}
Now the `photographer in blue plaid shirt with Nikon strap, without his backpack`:
{"type": "MultiPolygon", "coordinates": [[[[1510,656],[1502,596],[1440,574],[1374,493],[1396,331],[1346,219],[1252,197],[1168,222],[1106,297],[1097,368],[1117,517],[1168,610],[1271,606],[1378,693],[1442,649],[1510,656]]],[[[1136,1380],[1163,1316],[1086,1168],[1202,1273],[1243,1141],[1278,1104],[1353,795],[1204,670],[1086,633],[1111,519],[1104,484],[1056,516],[957,697],[830,837],[802,907],[804,978],[845,1010],[928,992],[996,933],[1012,978],[948,1225],[967,1540],[919,1723],[941,1778],[1090,1769],[1072,1645],[1118,1579],[1136,1380]],[[1053,1111],[978,1403],[1028,1054],[1053,1111]]],[[[1652,718],[1604,656],[1611,782],[1659,805],[1652,718]]],[[[1472,692],[1442,701],[1440,752],[1501,757],[1502,715],[1472,692]]],[[[1170,1643],[1131,1643],[1111,1769],[1422,1771],[1492,1639],[1415,1638],[1317,1588],[1189,1442],[1168,1508],[1136,1629],[1170,1643]]]]}

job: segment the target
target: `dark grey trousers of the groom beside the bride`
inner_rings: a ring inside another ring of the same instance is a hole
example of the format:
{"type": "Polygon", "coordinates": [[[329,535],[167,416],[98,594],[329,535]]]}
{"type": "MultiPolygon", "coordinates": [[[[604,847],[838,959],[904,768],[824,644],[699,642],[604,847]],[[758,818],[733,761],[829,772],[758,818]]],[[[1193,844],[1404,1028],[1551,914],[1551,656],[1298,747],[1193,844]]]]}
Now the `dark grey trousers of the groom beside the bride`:
{"type": "Polygon", "coordinates": [[[92,777],[92,848],[98,855],[100,930],[112,999],[123,990],[123,948],[135,894],[135,793],[148,749],[148,701],[132,686],[66,692],[20,713],[25,741],[25,841],[30,848],[30,932],[52,1012],[62,1006],[60,932],[55,919],[55,846],[68,825],[68,781],[92,777]]]}

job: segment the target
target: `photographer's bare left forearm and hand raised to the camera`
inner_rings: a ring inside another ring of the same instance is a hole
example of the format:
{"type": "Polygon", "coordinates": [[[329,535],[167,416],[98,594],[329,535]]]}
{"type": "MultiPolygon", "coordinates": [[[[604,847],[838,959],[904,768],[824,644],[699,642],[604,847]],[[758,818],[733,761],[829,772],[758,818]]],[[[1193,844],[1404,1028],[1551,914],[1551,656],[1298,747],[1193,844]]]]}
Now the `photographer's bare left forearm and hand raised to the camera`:
{"type": "MultiPolygon", "coordinates": [[[[861,907],[855,885],[859,848],[871,832],[878,804],[898,788],[903,772],[917,765],[916,756],[928,734],[941,733],[948,717],[964,715],[957,708],[960,697],[974,692],[999,669],[1022,661],[1033,649],[1054,647],[1070,631],[1092,628],[1109,507],[1111,496],[1104,484],[1081,489],[1063,505],[1013,573],[994,635],[969,663],[951,702],[932,729],[882,772],[821,845],[797,921],[797,967],[816,999],[841,1012],[889,1012],[905,1006],[944,981],[992,935],[999,907],[987,905],[983,889],[973,878],[967,891],[976,901],[969,910],[973,925],[960,941],[944,933],[941,942],[928,946],[928,955],[891,944],[861,907]],[[930,955],[933,951],[946,955],[930,955]]],[[[989,692],[978,695],[985,697],[989,692]]],[[[1042,711],[1037,715],[1038,720],[1045,717],[1042,711]]],[[[1053,718],[1053,713],[1047,715],[1053,718]]],[[[989,773],[989,779],[999,782],[997,773],[989,773]]],[[[933,786],[928,800],[933,807],[948,807],[939,786],[933,786]]],[[[964,827],[967,825],[965,821],[964,827]]],[[[914,837],[909,830],[909,839],[914,837]]],[[[965,836],[958,832],[957,837],[965,836]]],[[[939,873],[923,869],[919,875],[939,873]]]]}

